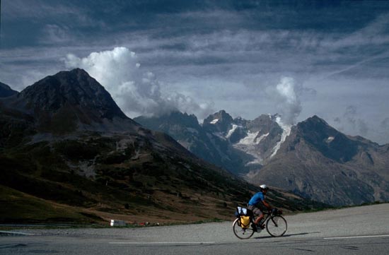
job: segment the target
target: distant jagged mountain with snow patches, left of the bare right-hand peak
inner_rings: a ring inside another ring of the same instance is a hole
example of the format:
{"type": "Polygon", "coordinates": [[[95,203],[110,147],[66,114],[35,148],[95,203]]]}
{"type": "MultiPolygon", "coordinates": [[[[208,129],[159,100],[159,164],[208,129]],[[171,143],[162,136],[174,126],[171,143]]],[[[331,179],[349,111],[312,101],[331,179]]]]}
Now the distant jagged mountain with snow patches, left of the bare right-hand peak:
{"type": "Polygon", "coordinates": [[[224,110],[209,115],[202,125],[194,115],[181,112],[134,120],[165,132],[197,157],[241,176],[259,170],[272,158],[286,132],[278,115],[262,114],[250,121],[233,119],[224,110]]]}

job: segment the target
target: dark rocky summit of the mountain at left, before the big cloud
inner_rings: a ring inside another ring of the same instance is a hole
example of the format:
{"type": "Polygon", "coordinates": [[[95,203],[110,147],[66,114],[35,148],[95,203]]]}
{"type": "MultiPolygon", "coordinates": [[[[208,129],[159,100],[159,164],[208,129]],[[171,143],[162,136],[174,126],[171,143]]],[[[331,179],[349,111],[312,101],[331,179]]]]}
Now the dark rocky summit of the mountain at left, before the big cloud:
{"type": "Polygon", "coordinates": [[[47,76],[25,88],[19,96],[30,109],[54,113],[71,106],[97,111],[100,118],[127,118],[107,90],[83,69],[47,76]]]}

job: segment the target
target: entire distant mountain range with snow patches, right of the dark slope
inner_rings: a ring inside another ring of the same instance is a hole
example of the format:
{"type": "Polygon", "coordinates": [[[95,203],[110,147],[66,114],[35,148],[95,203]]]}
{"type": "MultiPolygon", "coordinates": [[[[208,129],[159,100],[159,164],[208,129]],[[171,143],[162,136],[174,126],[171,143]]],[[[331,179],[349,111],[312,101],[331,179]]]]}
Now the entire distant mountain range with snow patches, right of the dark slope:
{"type": "Polygon", "coordinates": [[[196,134],[202,136],[195,142],[192,134],[182,133],[189,128],[185,122],[180,122],[180,129],[166,129],[170,123],[166,121],[161,129],[161,119],[137,121],[167,132],[182,145],[189,144],[187,149],[199,158],[253,184],[267,183],[334,206],[389,201],[389,145],[344,135],[317,116],[291,126],[277,114],[250,121],[233,119],[222,110],[197,126],[196,134]],[[194,143],[207,146],[194,150],[194,143]],[[216,160],[221,158],[227,160],[216,160]]]}

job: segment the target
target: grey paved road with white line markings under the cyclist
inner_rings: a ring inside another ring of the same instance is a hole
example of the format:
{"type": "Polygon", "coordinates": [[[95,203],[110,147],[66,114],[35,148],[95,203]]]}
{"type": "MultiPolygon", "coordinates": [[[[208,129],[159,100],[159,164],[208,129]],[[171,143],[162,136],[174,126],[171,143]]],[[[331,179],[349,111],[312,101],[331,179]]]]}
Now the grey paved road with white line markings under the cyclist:
{"type": "MultiPolygon", "coordinates": [[[[144,228],[14,230],[0,254],[389,254],[389,203],[286,215],[284,237],[248,240],[232,221],[144,228]]],[[[232,220],[232,218],[231,218],[232,220]]]]}

